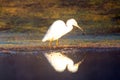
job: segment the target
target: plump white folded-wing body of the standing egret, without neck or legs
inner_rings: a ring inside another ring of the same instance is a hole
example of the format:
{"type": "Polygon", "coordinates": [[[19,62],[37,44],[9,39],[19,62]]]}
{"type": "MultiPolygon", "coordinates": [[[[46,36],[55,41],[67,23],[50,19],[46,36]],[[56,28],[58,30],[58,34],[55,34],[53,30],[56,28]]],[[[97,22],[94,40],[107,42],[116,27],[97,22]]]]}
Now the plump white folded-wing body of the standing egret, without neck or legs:
{"type": "Polygon", "coordinates": [[[50,26],[42,41],[44,42],[47,40],[56,40],[60,38],[62,35],[64,35],[65,30],[66,25],[64,21],[57,20],[50,26]]]}

